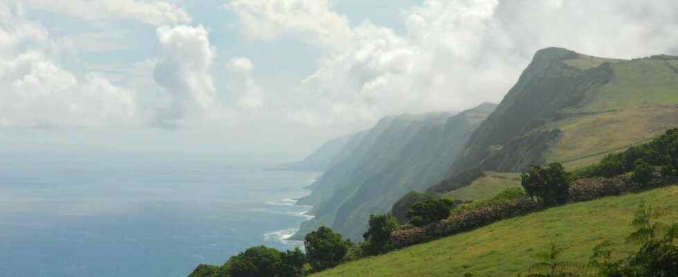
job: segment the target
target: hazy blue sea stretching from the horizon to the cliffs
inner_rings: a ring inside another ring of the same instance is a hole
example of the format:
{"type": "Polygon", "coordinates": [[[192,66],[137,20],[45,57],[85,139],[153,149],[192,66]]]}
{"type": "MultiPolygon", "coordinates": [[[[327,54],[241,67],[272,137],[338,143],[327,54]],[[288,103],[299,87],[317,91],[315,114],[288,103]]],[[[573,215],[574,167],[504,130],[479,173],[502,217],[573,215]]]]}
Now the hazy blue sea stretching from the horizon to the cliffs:
{"type": "Polygon", "coordinates": [[[0,276],[187,276],[284,240],[317,172],[219,159],[3,154],[0,276]]]}

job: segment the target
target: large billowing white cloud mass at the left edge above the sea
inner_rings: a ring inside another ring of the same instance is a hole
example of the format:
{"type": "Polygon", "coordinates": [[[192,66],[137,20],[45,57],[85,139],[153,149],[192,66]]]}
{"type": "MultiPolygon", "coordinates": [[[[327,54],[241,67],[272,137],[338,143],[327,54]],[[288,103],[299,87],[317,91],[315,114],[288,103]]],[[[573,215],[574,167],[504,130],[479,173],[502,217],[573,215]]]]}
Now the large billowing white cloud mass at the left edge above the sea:
{"type": "Polygon", "coordinates": [[[0,126],[135,125],[135,94],[55,61],[55,44],[21,8],[0,3],[0,126]]]}

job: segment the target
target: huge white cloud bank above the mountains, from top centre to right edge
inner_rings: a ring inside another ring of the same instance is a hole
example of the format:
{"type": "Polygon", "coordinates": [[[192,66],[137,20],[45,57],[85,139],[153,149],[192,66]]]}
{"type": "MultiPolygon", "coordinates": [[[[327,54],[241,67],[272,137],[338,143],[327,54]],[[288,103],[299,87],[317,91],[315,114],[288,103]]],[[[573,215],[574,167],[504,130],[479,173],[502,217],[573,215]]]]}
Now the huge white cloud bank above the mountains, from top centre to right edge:
{"type": "Polygon", "coordinates": [[[324,46],[318,69],[286,103],[288,118],[309,125],[499,102],[548,46],[625,58],[678,52],[672,0],[427,0],[403,10],[403,34],[369,21],[350,26],[327,1],[234,0],[226,8],[246,37],[324,46]]]}

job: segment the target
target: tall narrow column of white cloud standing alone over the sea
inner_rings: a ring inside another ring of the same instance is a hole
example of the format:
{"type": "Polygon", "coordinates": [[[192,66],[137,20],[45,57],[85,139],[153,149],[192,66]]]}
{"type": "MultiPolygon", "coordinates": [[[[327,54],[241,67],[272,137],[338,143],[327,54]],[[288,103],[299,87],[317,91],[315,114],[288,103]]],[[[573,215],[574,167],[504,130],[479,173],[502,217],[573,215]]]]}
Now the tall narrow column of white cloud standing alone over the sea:
{"type": "Polygon", "coordinates": [[[203,26],[161,26],[156,35],[159,53],[154,78],[172,97],[157,123],[183,125],[210,116],[217,89],[210,72],[215,53],[208,31],[203,26]]]}

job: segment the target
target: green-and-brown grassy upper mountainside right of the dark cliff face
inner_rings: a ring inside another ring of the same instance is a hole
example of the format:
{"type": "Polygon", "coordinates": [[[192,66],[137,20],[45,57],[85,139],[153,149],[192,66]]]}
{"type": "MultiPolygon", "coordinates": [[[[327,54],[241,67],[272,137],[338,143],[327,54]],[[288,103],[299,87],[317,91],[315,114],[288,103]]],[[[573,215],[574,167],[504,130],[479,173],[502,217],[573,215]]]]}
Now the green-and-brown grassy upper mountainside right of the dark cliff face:
{"type": "MultiPolygon", "coordinates": [[[[565,61],[587,68],[599,58],[565,61]]],[[[562,137],[547,153],[547,161],[572,163],[569,168],[585,166],[604,154],[626,148],[678,126],[678,73],[672,67],[678,60],[641,59],[616,61],[614,78],[596,89],[582,107],[570,112],[610,111],[567,118],[547,125],[559,128],[562,137]],[[595,155],[594,155],[595,156],[595,155]]]]}

